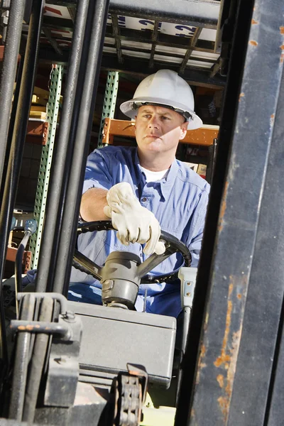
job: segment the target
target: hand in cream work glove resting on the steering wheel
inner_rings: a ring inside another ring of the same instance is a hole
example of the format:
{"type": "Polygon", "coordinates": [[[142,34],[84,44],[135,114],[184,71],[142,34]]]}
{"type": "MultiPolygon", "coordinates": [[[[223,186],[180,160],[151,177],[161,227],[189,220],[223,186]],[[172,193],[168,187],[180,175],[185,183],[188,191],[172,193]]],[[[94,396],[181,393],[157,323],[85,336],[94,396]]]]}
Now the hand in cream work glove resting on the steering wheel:
{"type": "Polygon", "coordinates": [[[107,192],[107,203],[104,214],[111,218],[122,244],[146,243],[144,253],[164,253],[165,245],[159,241],[160,224],[152,212],[141,206],[129,183],[121,182],[111,187],[107,192]]]}

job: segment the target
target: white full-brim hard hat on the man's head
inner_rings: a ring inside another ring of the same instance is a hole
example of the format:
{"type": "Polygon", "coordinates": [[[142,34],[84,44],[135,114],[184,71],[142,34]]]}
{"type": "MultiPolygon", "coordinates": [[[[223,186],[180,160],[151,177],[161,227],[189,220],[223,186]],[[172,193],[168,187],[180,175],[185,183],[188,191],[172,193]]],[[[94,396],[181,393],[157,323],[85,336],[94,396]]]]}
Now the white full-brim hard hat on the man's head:
{"type": "Polygon", "coordinates": [[[131,119],[143,104],[158,104],[174,109],[189,121],[187,129],[198,129],[202,119],[195,114],[195,99],[192,89],[178,72],[159,70],[148,75],[138,85],[133,99],[121,104],[121,111],[131,119]]]}

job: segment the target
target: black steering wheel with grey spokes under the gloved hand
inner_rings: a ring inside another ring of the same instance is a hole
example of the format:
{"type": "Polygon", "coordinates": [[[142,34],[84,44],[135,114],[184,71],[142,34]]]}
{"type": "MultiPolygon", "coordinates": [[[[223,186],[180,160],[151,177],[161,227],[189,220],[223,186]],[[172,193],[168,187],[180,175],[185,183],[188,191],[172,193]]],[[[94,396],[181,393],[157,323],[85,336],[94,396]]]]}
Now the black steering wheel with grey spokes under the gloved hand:
{"type": "MultiPolygon", "coordinates": [[[[116,231],[116,229],[114,229],[114,226],[112,226],[111,221],[84,222],[78,225],[77,236],[79,236],[80,234],[85,234],[87,232],[113,230],[116,231]]],[[[141,263],[143,271],[143,273],[141,274],[141,282],[143,284],[163,283],[166,280],[169,281],[178,278],[177,271],[175,271],[175,273],[167,273],[163,275],[148,275],[148,273],[152,271],[155,266],[158,266],[161,262],[171,256],[173,253],[182,254],[185,261],[184,266],[190,266],[191,264],[192,256],[190,250],[187,248],[187,246],[185,246],[184,243],[182,243],[182,241],[177,239],[175,236],[168,234],[168,232],[165,231],[161,231],[160,240],[165,243],[165,252],[163,254],[153,253],[146,259],[146,261],[141,263]]],[[[84,273],[92,275],[99,281],[102,279],[102,275],[100,273],[102,267],[98,266],[96,263],[84,256],[82,253],[80,253],[80,251],[75,250],[73,266],[84,273]]]]}

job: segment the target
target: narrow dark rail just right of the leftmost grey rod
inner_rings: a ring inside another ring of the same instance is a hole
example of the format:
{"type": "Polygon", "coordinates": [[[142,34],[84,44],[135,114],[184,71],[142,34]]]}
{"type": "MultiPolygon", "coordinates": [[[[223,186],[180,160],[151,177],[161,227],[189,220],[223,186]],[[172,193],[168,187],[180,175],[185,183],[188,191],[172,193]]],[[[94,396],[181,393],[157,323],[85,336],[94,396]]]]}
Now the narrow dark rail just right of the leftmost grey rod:
{"type": "MultiPolygon", "coordinates": [[[[0,211],[0,283],[4,271],[4,259],[6,258],[6,248],[9,239],[10,224],[13,214],[13,206],[16,198],[18,176],[21,169],[21,158],[23,156],[23,146],[26,138],[28,125],[28,114],[31,106],[33,82],[38,58],[38,43],[40,39],[40,27],[43,18],[44,1],[33,1],[31,12],[31,23],[28,31],[25,59],[23,62],[23,76],[21,79],[21,89],[18,98],[18,109],[16,112],[15,126],[9,156],[9,164],[4,185],[4,196],[0,211]]],[[[1,117],[1,120],[3,118],[1,117]]],[[[1,297],[2,300],[2,297],[1,297]]],[[[2,312],[2,310],[1,310],[2,312]]],[[[1,314],[2,315],[2,314],[1,314]]],[[[6,353],[6,333],[5,322],[1,319],[1,357],[7,360],[6,353]],[[4,353],[3,353],[4,351],[4,353]]]]}

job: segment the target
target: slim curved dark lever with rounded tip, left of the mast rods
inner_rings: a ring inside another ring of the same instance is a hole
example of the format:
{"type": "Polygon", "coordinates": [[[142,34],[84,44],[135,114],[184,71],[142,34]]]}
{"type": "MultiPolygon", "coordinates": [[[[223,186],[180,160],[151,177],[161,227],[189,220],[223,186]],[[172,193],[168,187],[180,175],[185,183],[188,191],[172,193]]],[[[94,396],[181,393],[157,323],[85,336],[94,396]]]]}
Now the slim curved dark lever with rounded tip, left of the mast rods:
{"type": "Polygon", "coordinates": [[[15,291],[16,291],[16,315],[18,318],[18,293],[23,291],[22,285],[22,263],[23,263],[23,252],[26,249],[26,245],[28,244],[28,239],[31,235],[33,235],[38,227],[38,223],[35,219],[26,220],[25,224],[25,234],[23,235],[23,239],[18,246],[18,250],[16,253],[16,262],[15,262],[15,291]]]}

